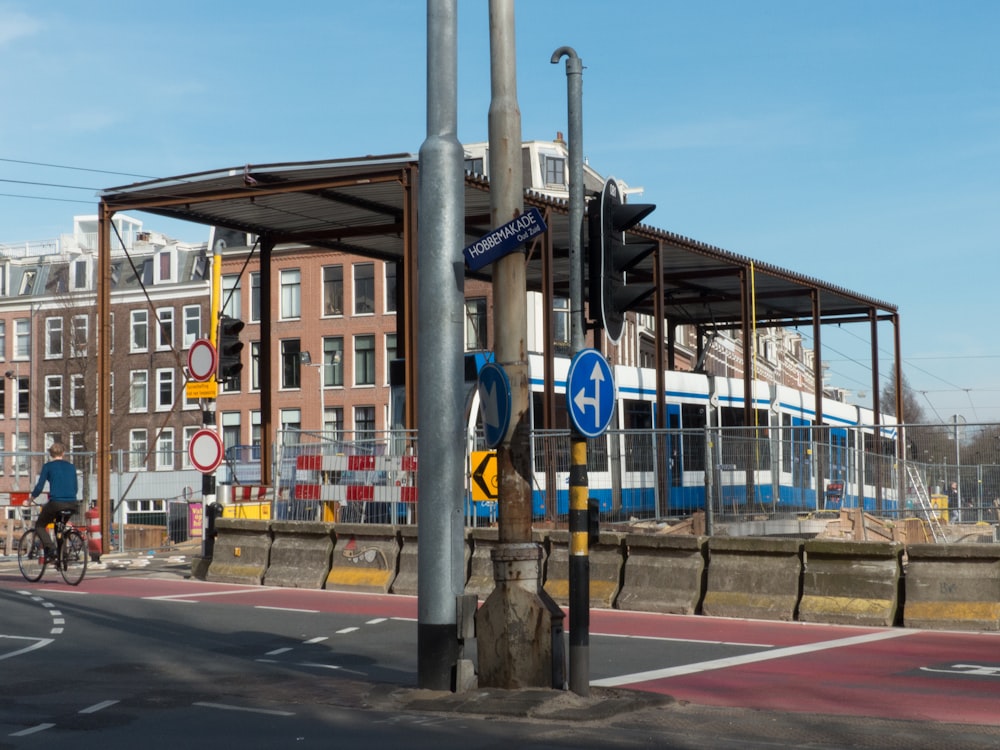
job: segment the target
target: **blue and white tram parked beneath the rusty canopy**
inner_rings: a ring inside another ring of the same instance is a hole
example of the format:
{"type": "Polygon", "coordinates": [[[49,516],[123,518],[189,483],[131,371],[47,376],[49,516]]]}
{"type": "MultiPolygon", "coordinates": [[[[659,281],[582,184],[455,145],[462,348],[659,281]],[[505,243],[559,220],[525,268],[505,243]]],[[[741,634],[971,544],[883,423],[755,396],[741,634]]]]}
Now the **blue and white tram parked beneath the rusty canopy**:
{"type": "MultiPolygon", "coordinates": [[[[486,359],[475,358],[481,367],[486,359]]],[[[554,361],[557,435],[538,429],[545,390],[543,359],[529,357],[533,430],[533,512],[568,513],[569,465],[562,406],[570,360],[554,361]],[[554,503],[550,507],[549,504],[554,503]]],[[[472,365],[472,362],[470,362],[472,365]]],[[[812,393],[755,381],[753,424],[745,422],[743,380],[691,372],[665,373],[666,430],[654,429],[656,373],[615,367],[612,428],[588,444],[588,492],[618,518],[801,512],[863,506],[895,507],[895,423],[883,417],[876,435],[871,410],[823,401],[815,428],[812,393]]],[[[470,389],[469,449],[481,446],[478,395],[470,389]]],[[[479,509],[477,515],[495,513],[479,509]]]]}

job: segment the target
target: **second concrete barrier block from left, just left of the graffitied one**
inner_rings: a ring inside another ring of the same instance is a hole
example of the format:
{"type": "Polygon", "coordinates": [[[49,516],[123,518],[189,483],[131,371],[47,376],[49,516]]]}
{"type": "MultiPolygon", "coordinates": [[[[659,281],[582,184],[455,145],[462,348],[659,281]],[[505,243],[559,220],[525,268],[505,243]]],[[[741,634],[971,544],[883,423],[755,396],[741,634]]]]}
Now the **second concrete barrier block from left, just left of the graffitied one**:
{"type": "Polygon", "coordinates": [[[333,524],[272,521],[271,537],[271,560],[264,574],[265,584],[323,588],[333,554],[333,524]]]}

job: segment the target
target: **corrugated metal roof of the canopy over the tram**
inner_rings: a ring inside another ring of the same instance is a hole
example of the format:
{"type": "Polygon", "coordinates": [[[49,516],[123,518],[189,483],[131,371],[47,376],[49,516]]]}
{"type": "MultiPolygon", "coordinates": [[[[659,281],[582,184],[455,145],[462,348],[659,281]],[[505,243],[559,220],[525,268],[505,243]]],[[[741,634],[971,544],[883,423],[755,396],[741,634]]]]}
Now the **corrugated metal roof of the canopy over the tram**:
{"type": "MultiPolygon", "coordinates": [[[[108,188],[99,195],[114,212],[145,211],[270,236],[276,244],[402,261],[406,234],[416,231],[415,220],[407,225],[407,207],[416,208],[418,171],[418,157],[405,153],[247,164],[108,188]]],[[[464,198],[471,244],[494,228],[489,180],[466,174],[464,198]]],[[[546,276],[540,245],[528,248],[528,288],[542,290],[551,283],[554,293],[568,296],[568,201],[532,190],[524,200],[546,217],[554,261],[546,276]]],[[[737,328],[744,317],[754,316],[759,326],[795,326],[881,320],[896,313],[887,302],[666,230],[641,225],[630,234],[630,240],[659,243],[663,314],[677,323],[737,328]]],[[[632,272],[636,281],[652,282],[653,258],[632,272]]],[[[488,280],[491,271],[487,266],[469,275],[488,280]]],[[[653,297],[643,305],[638,312],[655,313],[653,297]]]]}

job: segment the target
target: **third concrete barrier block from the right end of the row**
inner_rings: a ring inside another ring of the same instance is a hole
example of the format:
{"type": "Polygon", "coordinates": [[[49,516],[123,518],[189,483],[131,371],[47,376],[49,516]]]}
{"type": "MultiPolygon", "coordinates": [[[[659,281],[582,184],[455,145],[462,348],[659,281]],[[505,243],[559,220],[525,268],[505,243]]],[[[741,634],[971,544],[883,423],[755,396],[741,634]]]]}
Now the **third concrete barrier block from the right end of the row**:
{"type": "Polygon", "coordinates": [[[802,545],[800,539],[712,537],[702,614],[794,620],[802,545]]]}

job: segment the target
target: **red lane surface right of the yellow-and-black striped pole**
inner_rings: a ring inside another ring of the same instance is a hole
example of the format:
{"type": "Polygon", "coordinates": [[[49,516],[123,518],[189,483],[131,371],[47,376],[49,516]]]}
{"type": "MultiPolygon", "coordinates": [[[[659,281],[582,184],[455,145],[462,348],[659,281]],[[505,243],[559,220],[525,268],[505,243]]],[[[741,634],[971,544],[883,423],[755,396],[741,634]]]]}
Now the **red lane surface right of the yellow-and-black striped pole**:
{"type": "MultiPolygon", "coordinates": [[[[618,613],[633,637],[759,644],[753,653],[596,680],[700,705],[1000,726],[1000,634],[618,613]]],[[[596,632],[592,628],[591,632],[596,632]]]]}

